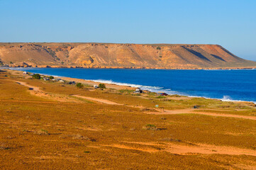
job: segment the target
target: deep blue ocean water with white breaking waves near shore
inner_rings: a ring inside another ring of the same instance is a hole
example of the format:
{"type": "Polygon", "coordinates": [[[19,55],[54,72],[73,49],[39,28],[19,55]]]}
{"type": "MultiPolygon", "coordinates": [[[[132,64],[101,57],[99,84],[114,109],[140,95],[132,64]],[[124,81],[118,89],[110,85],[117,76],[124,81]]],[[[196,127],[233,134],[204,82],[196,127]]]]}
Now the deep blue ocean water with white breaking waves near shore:
{"type": "Polygon", "coordinates": [[[57,69],[21,68],[27,72],[140,87],[167,94],[256,102],[256,69],[57,69]]]}

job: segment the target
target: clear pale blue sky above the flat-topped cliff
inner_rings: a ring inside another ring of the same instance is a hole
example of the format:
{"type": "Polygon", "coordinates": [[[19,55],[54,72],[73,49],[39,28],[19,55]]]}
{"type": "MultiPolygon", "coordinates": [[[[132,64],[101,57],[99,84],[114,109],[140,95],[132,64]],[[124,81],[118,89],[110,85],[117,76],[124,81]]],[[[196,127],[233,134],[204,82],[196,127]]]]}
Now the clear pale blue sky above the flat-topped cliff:
{"type": "Polygon", "coordinates": [[[256,61],[255,9],[255,0],[0,0],[0,42],[219,44],[256,61]]]}

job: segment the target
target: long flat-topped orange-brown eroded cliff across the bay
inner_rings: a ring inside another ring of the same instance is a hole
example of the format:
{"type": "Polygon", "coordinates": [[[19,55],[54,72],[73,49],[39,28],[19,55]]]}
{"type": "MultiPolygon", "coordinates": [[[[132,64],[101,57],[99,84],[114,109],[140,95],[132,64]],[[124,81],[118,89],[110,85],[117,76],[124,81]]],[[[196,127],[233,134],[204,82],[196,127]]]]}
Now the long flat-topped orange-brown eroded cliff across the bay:
{"type": "Polygon", "coordinates": [[[256,67],[256,62],[243,60],[220,45],[0,43],[0,61],[13,67],[256,67]]]}

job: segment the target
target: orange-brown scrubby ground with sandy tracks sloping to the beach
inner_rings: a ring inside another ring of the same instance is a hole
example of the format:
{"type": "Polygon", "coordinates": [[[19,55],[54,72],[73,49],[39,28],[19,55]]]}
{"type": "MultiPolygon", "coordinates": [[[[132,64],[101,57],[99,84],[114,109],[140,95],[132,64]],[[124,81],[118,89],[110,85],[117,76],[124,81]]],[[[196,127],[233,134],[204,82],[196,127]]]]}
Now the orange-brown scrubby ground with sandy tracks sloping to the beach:
{"type": "Polygon", "coordinates": [[[0,72],[0,168],[256,169],[252,103],[106,87],[0,72]]]}

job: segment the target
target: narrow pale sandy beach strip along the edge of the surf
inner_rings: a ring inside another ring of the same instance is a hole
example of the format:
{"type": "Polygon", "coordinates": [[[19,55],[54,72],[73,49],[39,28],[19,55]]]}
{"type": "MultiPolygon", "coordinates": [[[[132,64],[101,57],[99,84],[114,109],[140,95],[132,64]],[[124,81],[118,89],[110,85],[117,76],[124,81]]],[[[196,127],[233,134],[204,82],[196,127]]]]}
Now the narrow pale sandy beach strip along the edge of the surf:
{"type": "MultiPolygon", "coordinates": [[[[13,67],[11,67],[13,68],[13,67]]],[[[1,67],[0,67],[1,69],[1,67]]],[[[9,68],[8,68],[9,69],[9,68]]],[[[23,69],[23,68],[22,68],[23,69]]],[[[18,72],[23,72],[21,70],[16,69],[16,67],[14,67],[13,69],[9,69],[9,70],[15,70],[18,72]]],[[[79,79],[79,78],[72,78],[72,77],[62,77],[62,76],[57,76],[57,75],[50,75],[50,74],[40,74],[43,76],[53,76],[53,77],[58,77],[60,79],[63,79],[65,81],[75,81],[75,82],[79,82],[82,84],[88,84],[90,86],[94,86],[94,85],[99,85],[101,83],[106,84],[106,88],[108,89],[116,89],[116,90],[121,90],[121,89],[129,89],[129,90],[135,90],[136,88],[140,88],[143,91],[150,91],[150,92],[165,92],[168,94],[168,91],[165,91],[165,89],[159,89],[159,91],[152,91],[150,89],[145,89],[143,88],[144,85],[140,85],[140,84],[126,84],[126,83],[118,83],[118,82],[113,82],[113,83],[106,83],[106,80],[91,80],[91,79],[79,79]]],[[[108,80],[109,81],[109,80],[108,80]]],[[[148,87],[155,87],[155,86],[148,86],[148,87]]],[[[160,87],[158,87],[160,88],[160,87]]],[[[174,91],[177,92],[177,91],[174,91]]],[[[186,94],[180,94],[179,92],[174,93],[174,94],[168,94],[170,96],[172,95],[179,95],[179,96],[185,96],[187,98],[206,98],[206,99],[211,99],[211,100],[219,100],[219,101],[224,101],[224,102],[233,102],[233,103],[254,103],[256,104],[256,101],[241,101],[241,100],[233,100],[233,99],[223,99],[223,98],[208,98],[208,97],[204,97],[204,96],[189,96],[186,94]]]]}

